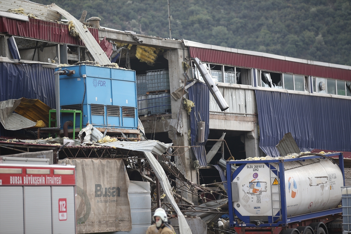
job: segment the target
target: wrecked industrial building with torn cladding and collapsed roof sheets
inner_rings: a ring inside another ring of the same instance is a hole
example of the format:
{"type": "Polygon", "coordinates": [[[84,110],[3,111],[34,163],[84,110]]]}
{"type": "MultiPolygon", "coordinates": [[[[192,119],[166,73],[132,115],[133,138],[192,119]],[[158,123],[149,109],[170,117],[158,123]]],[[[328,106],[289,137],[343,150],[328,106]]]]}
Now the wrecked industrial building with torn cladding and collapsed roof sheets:
{"type": "Polygon", "coordinates": [[[230,233],[230,160],[343,152],[350,182],[350,66],[139,35],[86,14],[0,4],[0,162],[74,165],[69,230],[145,233],[163,207],[177,233],[218,233],[219,218],[230,233]]]}

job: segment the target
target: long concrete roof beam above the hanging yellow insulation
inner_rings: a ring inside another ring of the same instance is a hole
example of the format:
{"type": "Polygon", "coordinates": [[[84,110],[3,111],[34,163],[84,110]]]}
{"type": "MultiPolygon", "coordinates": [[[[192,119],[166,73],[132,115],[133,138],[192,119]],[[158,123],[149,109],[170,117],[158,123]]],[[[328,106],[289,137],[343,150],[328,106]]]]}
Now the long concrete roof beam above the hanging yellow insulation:
{"type": "Polygon", "coordinates": [[[182,46],[183,41],[138,34],[140,40],[143,41],[142,44],[139,44],[133,39],[130,33],[108,29],[99,29],[99,38],[104,38],[105,36],[107,40],[119,41],[133,45],[152,46],[163,49],[182,49],[182,47],[184,47],[184,45],[182,46]]]}

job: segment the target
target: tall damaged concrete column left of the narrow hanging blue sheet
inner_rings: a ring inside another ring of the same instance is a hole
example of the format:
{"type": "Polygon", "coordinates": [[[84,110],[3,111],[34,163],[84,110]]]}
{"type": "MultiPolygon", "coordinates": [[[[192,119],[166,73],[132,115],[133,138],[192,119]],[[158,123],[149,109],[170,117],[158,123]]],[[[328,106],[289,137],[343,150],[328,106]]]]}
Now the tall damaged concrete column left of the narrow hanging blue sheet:
{"type": "MultiPolygon", "coordinates": [[[[164,57],[168,60],[168,69],[170,72],[170,91],[171,93],[176,91],[181,86],[185,86],[185,78],[183,76],[184,70],[182,66],[182,62],[189,61],[184,60],[184,56],[188,55],[188,51],[184,49],[173,49],[164,54],[164,57]]],[[[189,71],[188,71],[189,74],[189,71]]],[[[186,95],[185,95],[186,96],[186,95]]],[[[175,127],[170,127],[172,130],[168,131],[168,137],[173,140],[174,146],[189,146],[188,142],[188,129],[190,128],[190,117],[188,116],[186,110],[184,109],[183,103],[181,103],[181,99],[174,100],[171,97],[171,110],[172,110],[172,119],[178,120],[178,118],[183,123],[183,131],[182,135],[180,133],[176,133],[175,127]],[[179,116],[180,115],[180,116],[179,116]]],[[[191,181],[198,183],[197,181],[197,173],[194,169],[193,161],[196,160],[193,154],[192,149],[181,148],[178,150],[179,154],[183,154],[182,156],[176,156],[175,162],[178,168],[180,168],[185,176],[191,181]]],[[[184,194],[183,194],[184,195],[184,194]]],[[[196,200],[197,197],[191,198],[191,194],[188,194],[189,200],[196,200]]]]}

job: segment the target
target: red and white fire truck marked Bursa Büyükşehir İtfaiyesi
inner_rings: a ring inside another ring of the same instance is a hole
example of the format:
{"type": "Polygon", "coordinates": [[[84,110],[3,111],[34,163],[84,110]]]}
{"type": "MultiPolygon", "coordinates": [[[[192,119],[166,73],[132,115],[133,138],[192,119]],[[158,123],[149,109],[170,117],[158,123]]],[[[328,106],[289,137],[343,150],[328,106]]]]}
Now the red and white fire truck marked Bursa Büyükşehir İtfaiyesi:
{"type": "Polygon", "coordinates": [[[1,163],[0,207],[0,234],[76,233],[75,166],[1,163]]]}

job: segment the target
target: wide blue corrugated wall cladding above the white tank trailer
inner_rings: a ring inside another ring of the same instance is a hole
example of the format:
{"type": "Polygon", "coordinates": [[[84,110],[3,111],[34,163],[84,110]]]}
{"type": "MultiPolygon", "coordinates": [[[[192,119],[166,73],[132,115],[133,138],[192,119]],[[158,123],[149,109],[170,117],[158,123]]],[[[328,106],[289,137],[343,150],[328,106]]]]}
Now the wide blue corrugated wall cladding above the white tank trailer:
{"type": "Polygon", "coordinates": [[[300,150],[351,151],[351,100],[256,90],[260,148],[273,157],[285,133],[300,150]]]}

